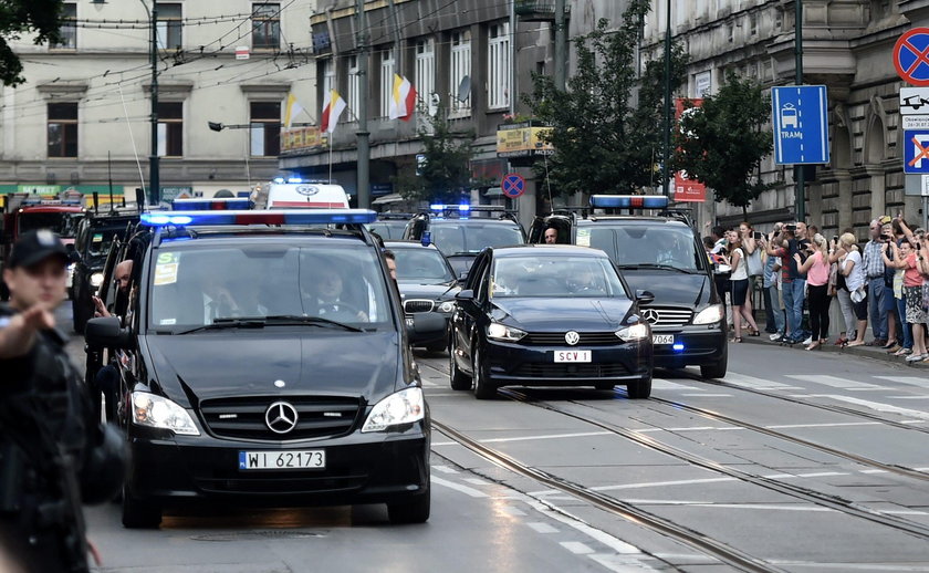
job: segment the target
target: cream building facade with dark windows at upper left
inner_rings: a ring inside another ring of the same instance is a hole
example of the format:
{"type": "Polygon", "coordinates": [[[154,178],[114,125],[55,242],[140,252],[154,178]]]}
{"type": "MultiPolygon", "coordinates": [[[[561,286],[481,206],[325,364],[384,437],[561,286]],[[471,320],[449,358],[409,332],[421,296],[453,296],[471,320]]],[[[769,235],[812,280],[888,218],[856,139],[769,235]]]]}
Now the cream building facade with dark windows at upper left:
{"type": "Polygon", "coordinates": [[[25,83],[2,90],[0,192],[148,188],[153,8],[160,195],[238,195],[271,179],[288,95],[314,107],[313,4],[65,2],[61,44],[13,44],[25,83]]]}

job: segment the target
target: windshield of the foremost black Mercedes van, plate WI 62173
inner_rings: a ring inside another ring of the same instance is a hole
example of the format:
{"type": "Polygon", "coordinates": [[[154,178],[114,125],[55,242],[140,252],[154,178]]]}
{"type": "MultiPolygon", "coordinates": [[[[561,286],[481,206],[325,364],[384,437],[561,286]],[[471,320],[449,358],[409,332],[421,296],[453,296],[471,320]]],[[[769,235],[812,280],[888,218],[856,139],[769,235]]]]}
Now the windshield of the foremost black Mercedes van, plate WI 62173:
{"type": "Polygon", "coordinates": [[[365,330],[392,324],[380,262],[368,248],[169,242],[154,253],[149,329],[159,333],[237,325],[230,319],[239,317],[320,317],[365,330]]]}

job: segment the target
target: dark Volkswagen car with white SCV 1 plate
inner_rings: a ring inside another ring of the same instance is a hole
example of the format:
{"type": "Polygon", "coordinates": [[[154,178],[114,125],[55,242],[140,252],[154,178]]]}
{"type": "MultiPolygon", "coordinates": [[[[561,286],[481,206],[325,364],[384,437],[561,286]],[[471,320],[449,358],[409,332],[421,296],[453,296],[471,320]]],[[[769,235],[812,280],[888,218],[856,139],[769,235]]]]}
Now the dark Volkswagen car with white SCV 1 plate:
{"type": "Polygon", "coordinates": [[[651,330],[601,250],[526,244],[477,258],[451,320],[451,387],[625,385],[651,394],[651,330]]]}

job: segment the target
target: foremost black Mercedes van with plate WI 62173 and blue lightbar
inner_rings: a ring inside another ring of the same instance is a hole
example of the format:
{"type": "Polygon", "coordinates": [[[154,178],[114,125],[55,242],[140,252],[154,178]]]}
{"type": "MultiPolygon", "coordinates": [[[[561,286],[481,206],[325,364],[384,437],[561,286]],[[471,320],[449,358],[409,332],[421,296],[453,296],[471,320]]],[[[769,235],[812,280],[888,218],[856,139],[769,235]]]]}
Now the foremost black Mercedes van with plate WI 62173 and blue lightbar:
{"type": "Polygon", "coordinates": [[[118,348],[126,527],[197,502],[429,518],[429,411],[374,216],[142,215],[116,257],[134,261],[125,326],[86,327],[90,351],[118,348]]]}

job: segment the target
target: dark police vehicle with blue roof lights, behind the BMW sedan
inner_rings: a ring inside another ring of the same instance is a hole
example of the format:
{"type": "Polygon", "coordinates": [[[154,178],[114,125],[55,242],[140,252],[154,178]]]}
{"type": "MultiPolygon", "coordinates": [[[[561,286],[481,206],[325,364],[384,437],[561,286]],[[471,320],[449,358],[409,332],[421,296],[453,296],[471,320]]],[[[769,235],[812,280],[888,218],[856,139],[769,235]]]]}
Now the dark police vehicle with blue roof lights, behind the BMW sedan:
{"type": "Polygon", "coordinates": [[[525,231],[513,211],[493,206],[434,205],[407,223],[404,239],[434,243],[455,273],[463,279],[486,247],[525,243],[525,231]]]}

